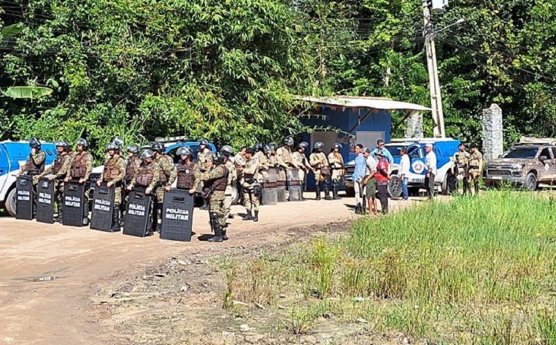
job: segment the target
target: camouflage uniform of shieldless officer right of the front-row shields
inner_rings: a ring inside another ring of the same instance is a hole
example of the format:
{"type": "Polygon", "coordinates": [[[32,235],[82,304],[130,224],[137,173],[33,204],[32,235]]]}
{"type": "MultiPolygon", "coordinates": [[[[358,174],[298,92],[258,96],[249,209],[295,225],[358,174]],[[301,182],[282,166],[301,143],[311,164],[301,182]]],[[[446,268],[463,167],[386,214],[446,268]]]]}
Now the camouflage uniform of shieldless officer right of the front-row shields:
{"type": "Polygon", "coordinates": [[[213,169],[205,171],[201,174],[201,179],[204,183],[203,196],[208,199],[211,213],[218,216],[218,224],[221,228],[226,227],[226,212],[224,211],[224,199],[226,199],[227,180],[222,182],[223,187],[220,187],[222,178],[227,178],[228,169],[225,165],[216,165],[213,169]],[[211,187],[215,187],[212,189],[211,187]]]}

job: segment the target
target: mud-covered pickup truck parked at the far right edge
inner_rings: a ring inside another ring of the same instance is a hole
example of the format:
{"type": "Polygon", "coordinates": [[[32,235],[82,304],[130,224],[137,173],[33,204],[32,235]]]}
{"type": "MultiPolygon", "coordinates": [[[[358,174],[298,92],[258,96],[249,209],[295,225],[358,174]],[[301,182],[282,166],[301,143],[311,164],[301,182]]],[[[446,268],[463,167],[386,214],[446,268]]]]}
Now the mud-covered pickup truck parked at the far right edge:
{"type": "Polygon", "coordinates": [[[556,181],[556,140],[523,137],[512,149],[486,166],[487,186],[509,184],[526,190],[556,181]]]}

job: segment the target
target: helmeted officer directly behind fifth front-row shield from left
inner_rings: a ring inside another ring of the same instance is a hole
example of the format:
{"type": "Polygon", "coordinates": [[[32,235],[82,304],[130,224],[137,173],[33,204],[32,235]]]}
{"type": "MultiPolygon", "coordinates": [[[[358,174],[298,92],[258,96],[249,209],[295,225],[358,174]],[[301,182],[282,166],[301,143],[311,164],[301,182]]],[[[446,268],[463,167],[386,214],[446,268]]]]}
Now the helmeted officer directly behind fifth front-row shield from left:
{"type": "MultiPolygon", "coordinates": [[[[141,164],[136,170],[135,175],[131,178],[131,183],[127,186],[127,190],[133,190],[133,187],[145,188],[145,194],[150,195],[158,187],[158,179],[161,177],[161,167],[154,162],[154,153],[151,150],[142,151],[140,157],[141,164]]],[[[146,236],[153,234],[152,227],[152,210],[147,218],[147,233],[146,236]]]]}

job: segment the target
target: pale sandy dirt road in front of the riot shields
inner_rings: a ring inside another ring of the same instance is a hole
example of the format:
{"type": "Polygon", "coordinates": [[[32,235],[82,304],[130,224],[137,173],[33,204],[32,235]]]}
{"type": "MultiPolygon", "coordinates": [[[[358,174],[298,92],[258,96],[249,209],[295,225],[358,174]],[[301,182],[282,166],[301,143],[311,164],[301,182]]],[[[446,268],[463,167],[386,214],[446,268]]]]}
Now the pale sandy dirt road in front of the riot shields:
{"type": "MultiPolygon", "coordinates": [[[[310,195],[308,196],[310,197],[310,195]]],[[[142,263],[173,255],[225,251],[271,242],[299,227],[319,229],[353,219],[354,199],[281,203],[261,208],[259,223],[230,221],[230,240],[199,241],[210,233],[208,214],[196,209],[192,242],[103,233],[89,228],[0,218],[0,344],[101,344],[101,330],[87,313],[99,287],[115,276],[133,275],[142,263]],[[55,276],[55,280],[40,281],[55,276]],[[44,278],[43,278],[44,279],[44,278]]],[[[391,201],[393,210],[413,202],[391,201]]],[[[243,213],[234,206],[233,213],[243,213]]]]}

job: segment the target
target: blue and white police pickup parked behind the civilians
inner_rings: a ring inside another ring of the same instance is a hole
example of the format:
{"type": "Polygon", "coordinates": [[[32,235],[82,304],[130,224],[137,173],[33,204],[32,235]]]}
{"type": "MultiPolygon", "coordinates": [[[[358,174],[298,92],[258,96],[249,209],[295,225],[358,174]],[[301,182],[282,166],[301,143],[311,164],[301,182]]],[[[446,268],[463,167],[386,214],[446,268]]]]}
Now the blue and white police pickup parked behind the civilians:
{"type": "MultiPolygon", "coordinates": [[[[444,194],[449,192],[449,182],[452,178],[451,167],[452,159],[458,151],[459,140],[449,137],[446,138],[423,138],[423,139],[393,139],[388,144],[384,145],[392,154],[394,162],[390,167],[390,175],[398,176],[400,169],[401,149],[407,148],[409,158],[411,160],[411,167],[409,169],[409,176],[407,176],[408,189],[410,194],[418,192],[420,188],[425,187],[425,144],[432,144],[434,153],[436,153],[436,169],[437,174],[434,178],[435,185],[441,187],[444,194]]],[[[350,161],[346,165],[345,173],[345,190],[346,194],[354,194],[352,174],[354,171],[355,163],[350,161]]],[[[393,198],[398,198],[402,195],[402,188],[399,178],[393,178],[389,184],[389,194],[393,198]]]]}

